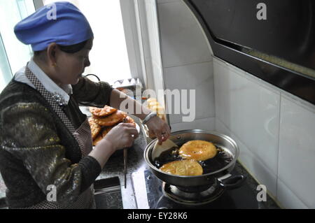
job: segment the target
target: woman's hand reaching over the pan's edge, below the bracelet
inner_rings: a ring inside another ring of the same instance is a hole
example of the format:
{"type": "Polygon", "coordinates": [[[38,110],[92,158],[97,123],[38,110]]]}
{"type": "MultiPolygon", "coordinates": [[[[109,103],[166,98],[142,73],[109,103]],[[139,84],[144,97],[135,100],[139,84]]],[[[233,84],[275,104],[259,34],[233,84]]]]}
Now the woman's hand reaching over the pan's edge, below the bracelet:
{"type": "Polygon", "coordinates": [[[155,116],[146,122],[149,133],[155,135],[158,138],[159,145],[166,141],[171,135],[171,129],[169,125],[160,119],[160,117],[155,116]]]}

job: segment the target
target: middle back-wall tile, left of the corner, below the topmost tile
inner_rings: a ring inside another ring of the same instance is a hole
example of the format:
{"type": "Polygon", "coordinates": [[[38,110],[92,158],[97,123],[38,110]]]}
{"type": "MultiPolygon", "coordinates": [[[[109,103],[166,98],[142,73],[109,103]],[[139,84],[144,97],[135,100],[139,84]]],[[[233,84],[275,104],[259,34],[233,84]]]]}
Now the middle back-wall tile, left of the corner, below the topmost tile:
{"type": "MultiPolygon", "coordinates": [[[[188,108],[195,103],[196,119],[215,116],[212,62],[166,68],[164,76],[167,89],[195,90],[195,100],[188,100],[188,108]]],[[[188,96],[186,98],[189,99],[188,96]]],[[[183,113],[174,114],[174,99],[172,102],[167,101],[167,104],[172,104],[173,108],[173,113],[169,115],[170,122],[172,124],[182,122],[183,113]]]]}

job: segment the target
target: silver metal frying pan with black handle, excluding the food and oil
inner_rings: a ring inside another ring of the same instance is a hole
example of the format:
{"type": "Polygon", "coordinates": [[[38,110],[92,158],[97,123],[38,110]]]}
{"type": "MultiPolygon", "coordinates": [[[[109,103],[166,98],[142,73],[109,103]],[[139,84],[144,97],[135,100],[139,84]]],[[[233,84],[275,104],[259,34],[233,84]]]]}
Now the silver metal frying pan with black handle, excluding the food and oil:
{"type": "Polygon", "coordinates": [[[202,190],[204,187],[221,185],[227,189],[233,189],[239,187],[242,182],[244,182],[244,175],[235,175],[231,176],[230,172],[235,167],[235,163],[237,161],[237,157],[239,157],[239,148],[237,143],[232,140],[229,136],[225,136],[223,134],[219,134],[214,131],[204,131],[200,129],[191,129],[184,131],[176,131],[169,136],[169,139],[172,140],[176,145],[183,145],[187,141],[192,140],[203,140],[209,141],[222,148],[224,152],[232,155],[232,161],[229,164],[224,166],[223,168],[197,176],[181,176],[181,175],[173,175],[169,173],[165,173],[160,171],[160,169],[156,168],[153,164],[151,152],[153,147],[158,139],[153,140],[148,144],[146,150],[144,151],[144,159],[148,166],[150,166],[151,171],[158,177],[160,180],[168,183],[169,185],[174,185],[181,188],[187,188],[191,190],[191,188],[195,188],[196,191],[202,190]],[[224,180],[223,180],[224,179],[224,180]]]}

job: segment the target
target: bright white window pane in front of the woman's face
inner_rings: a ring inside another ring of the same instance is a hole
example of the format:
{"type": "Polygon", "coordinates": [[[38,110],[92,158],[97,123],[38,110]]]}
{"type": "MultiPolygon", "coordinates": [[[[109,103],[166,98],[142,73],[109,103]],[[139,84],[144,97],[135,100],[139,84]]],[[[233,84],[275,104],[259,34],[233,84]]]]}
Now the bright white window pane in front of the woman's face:
{"type": "MultiPolygon", "coordinates": [[[[116,80],[131,78],[120,1],[68,1],[82,11],[94,32],[91,66],[85,69],[84,74],[93,73],[111,84],[116,80]]],[[[44,5],[53,2],[43,0],[44,5]]]]}

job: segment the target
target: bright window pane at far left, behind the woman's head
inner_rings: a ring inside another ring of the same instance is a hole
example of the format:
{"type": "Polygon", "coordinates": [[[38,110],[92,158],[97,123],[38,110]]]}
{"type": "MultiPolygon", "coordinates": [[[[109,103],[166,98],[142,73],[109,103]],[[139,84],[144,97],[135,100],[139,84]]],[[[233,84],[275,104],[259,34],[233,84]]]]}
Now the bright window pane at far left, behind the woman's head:
{"type": "Polygon", "coordinates": [[[34,12],[32,0],[0,1],[0,92],[31,57],[31,48],[18,41],[13,27],[34,12]]]}

